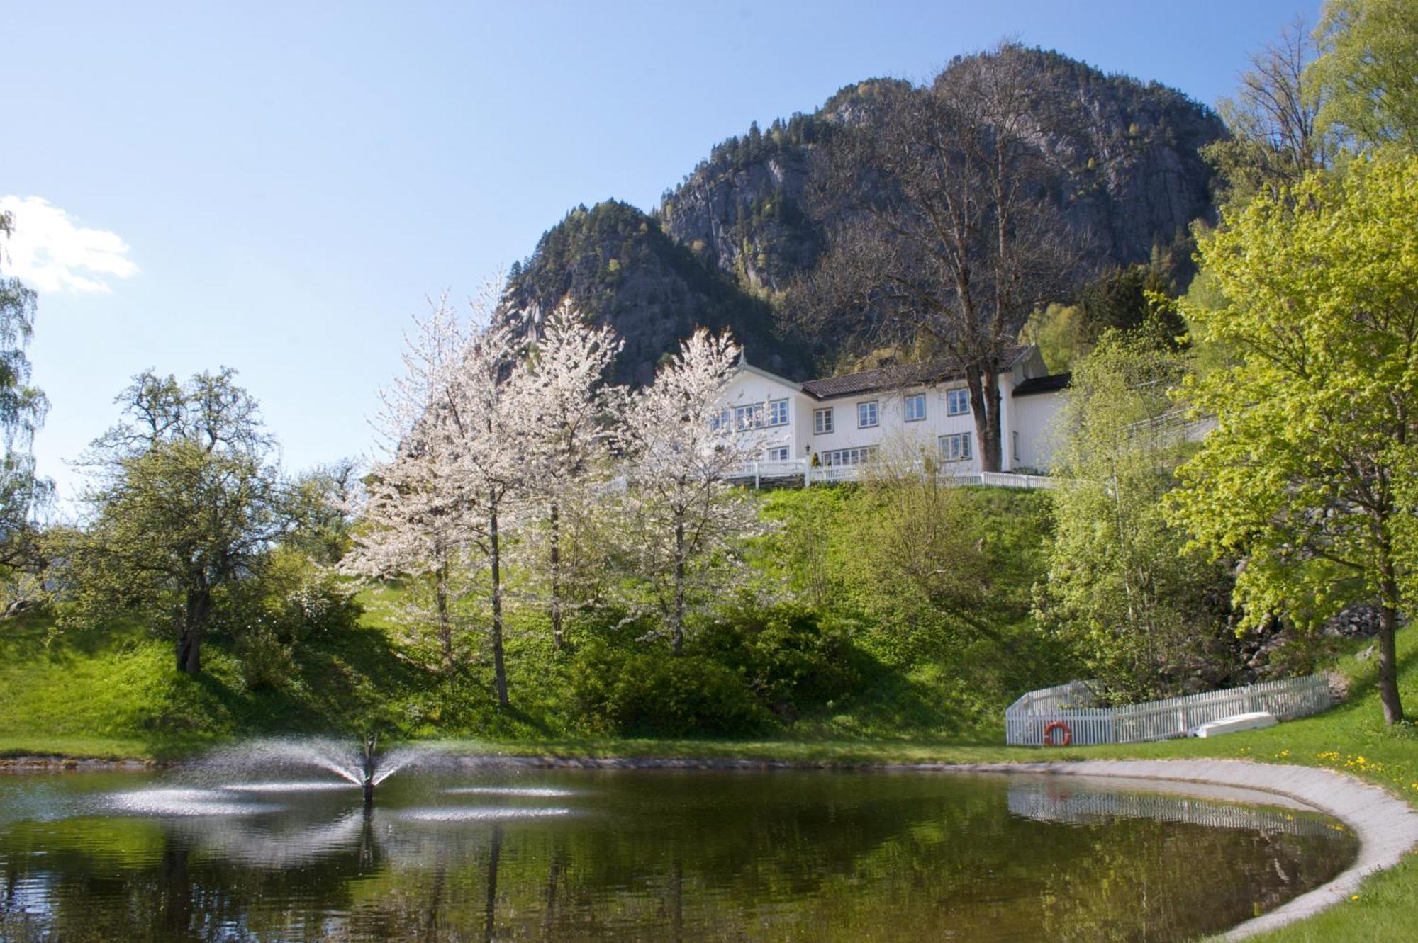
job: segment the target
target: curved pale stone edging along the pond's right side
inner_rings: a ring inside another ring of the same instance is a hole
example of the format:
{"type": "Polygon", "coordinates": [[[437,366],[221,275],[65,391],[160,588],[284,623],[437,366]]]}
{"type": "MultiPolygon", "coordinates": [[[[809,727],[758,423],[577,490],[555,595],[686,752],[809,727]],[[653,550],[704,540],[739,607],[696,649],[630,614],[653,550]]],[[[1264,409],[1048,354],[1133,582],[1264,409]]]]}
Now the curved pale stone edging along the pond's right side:
{"type": "Polygon", "coordinates": [[[1068,763],[930,765],[960,773],[1045,773],[1054,776],[1124,776],[1129,779],[1218,783],[1297,799],[1339,818],[1358,837],[1354,864],[1326,885],[1258,918],[1231,927],[1224,940],[1244,940],[1347,902],[1375,871],[1392,868],[1418,845],[1418,813],[1378,786],[1312,766],[1279,766],[1246,760],[1079,760],[1068,763]]]}

